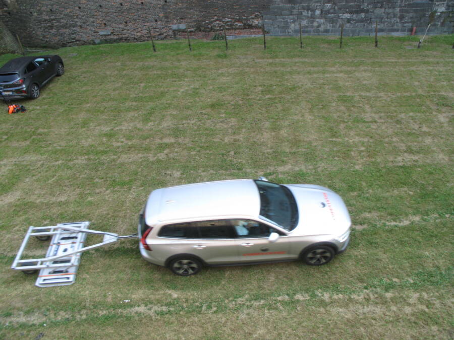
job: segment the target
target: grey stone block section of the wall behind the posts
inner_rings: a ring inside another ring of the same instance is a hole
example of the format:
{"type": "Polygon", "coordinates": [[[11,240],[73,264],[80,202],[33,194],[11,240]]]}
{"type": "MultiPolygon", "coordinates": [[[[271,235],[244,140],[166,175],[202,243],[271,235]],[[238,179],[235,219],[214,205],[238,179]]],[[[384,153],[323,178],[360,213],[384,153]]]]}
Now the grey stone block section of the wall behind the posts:
{"type": "Polygon", "coordinates": [[[271,35],[338,35],[341,25],[347,36],[378,34],[409,35],[454,33],[454,1],[426,0],[283,0],[263,12],[271,35]]]}

